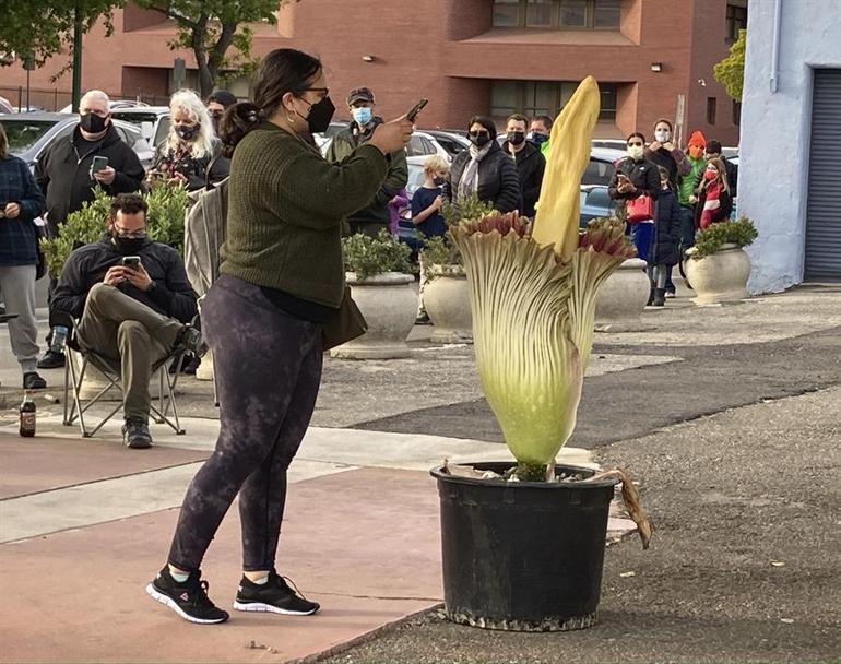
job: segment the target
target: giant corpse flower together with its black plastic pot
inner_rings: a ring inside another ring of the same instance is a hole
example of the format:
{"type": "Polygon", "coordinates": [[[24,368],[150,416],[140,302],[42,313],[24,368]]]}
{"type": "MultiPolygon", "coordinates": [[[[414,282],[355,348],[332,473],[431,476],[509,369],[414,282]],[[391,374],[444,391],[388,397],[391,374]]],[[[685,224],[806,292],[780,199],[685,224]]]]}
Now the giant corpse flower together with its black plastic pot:
{"type": "MultiPolygon", "coordinates": [[[[616,220],[579,233],[578,182],[599,117],[588,78],[553,128],[530,235],[517,214],[462,220],[482,387],[516,463],[431,471],[441,503],[446,615],[493,629],[565,630],[595,620],[618,473],[558,465],[576,424],[600,286],[633,248],[616,220]]],[[[632,484],[623,483],[628,498],[632,484]]],[[[637,503],[643,545],[650,529],[637,503]]]]}

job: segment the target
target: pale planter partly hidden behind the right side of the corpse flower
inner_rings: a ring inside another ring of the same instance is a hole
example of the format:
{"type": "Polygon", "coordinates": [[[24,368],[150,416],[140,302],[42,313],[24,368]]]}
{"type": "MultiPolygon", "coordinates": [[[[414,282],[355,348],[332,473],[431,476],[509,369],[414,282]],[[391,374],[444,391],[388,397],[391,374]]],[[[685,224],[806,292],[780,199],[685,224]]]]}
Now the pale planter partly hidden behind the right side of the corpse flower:
{"type": "Polygon", "coordinates": [[[628,259],[602,284],[595,304],[596,327],[615,330],[640,324],[651,290],[645,266],[641,259],[628,259]]]}

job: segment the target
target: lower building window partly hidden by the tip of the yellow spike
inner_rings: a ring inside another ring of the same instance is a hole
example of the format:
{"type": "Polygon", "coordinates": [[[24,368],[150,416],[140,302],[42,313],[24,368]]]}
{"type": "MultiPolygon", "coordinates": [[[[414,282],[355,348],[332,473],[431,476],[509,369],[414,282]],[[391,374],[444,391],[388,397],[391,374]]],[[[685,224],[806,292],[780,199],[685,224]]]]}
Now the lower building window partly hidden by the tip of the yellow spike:
{"type": "MultiPolygon", "coordinates": [[[[557,117],[576,92],[578,83],[562,81],[494,81],[490,86],[490,115],[502,122],[516,112],[530,118],[538,115],[557,117]]],[[[616,118],[616,84],[600,83],[602,111],[600,120],[616,118]]]]}

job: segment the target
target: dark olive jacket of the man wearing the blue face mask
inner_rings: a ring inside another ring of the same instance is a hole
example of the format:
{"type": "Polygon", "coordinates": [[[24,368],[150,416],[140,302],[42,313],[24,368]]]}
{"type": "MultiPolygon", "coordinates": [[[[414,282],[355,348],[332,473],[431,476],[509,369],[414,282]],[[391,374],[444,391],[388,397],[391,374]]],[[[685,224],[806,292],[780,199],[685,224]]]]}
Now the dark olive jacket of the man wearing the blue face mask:
{"type": "MultiPolygon", "coordinates": [[[[374,118],[367,130],[359,132],[359,128],[356,122],[340,131],[328,147],[327,158],[328,162],[337,164],[350,157],[353,152],[359,146],[368,142],[374,134],[375,128],[382,122],[382,118],[374,118]]],[[[391,220],[389,214],[389,202],[393,199],[398,192],[406,186],[408,182],[408,165],[406,164],[406,151],[399,150],[390,154],[389,171],[386,176],[386,181],[380,187],[377,195],[367,208],[357,210],[347,218],[352,222],[365,222],[374,224],[382,224],[383,228],[388,227],[391,220]]]]}

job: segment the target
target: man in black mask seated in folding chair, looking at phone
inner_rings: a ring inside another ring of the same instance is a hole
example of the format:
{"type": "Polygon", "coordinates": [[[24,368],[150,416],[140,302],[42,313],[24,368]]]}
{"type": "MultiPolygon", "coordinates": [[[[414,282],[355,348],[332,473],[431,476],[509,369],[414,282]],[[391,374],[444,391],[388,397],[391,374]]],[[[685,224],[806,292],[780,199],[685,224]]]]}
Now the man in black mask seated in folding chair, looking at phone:
{"type": "Polygon", "coordinates": [[[139,194],[117,195],[99,241],[70,254],[50,308],[81,318],[80,345],[119,363],[123,441],[130,448],[151,447],[152,365],[175,347],[201,356],[206,346],[186,324],[197,304],[181,257],[146,237],[146,203],[139,194]]]}

